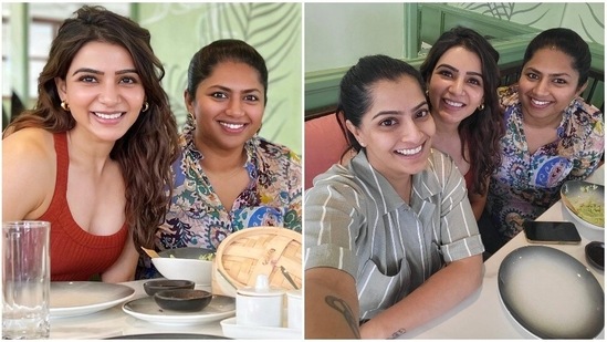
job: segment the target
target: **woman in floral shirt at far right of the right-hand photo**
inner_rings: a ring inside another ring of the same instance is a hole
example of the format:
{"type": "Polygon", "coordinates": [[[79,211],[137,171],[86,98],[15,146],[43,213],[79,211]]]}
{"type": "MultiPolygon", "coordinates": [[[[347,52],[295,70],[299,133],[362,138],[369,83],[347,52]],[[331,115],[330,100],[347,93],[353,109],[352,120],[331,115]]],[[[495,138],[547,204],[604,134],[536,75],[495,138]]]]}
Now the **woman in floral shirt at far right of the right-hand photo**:
{"type": "Polygon", "coordinates": [[[585,179],[605,151],[603,113],[584,102],[588,44],[569,29],[540,33],[519,83],[499,90],[506,134],[480,228],[494,252],[559,199],[565,180],[585,179]]]}

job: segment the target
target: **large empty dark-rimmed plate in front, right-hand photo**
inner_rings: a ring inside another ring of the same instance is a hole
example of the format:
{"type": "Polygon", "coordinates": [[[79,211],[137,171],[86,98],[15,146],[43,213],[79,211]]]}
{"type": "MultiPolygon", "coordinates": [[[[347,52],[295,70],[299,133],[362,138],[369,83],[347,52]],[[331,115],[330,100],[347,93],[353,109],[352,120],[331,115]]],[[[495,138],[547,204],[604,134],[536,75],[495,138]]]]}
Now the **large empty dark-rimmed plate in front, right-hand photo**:
{"type": "Polygon", "coordinates": [[[498,273],[502,303],[541,339],[593,339],[605,325],[605,293],[572,256],[546,246],[510,252],[498,273]]]}

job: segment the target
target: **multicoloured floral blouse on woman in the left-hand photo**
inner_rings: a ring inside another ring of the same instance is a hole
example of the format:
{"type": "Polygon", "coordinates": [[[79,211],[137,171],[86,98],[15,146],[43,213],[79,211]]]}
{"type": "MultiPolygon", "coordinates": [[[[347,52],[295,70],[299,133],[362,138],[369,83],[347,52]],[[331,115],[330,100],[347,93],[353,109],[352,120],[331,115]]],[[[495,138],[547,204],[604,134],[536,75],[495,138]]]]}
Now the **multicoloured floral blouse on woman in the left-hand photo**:
{"type": "MultiPolygon", "coordinates": [[[[181,155],[172,166],[174,190],[165,221],[156,232],[156,249],[200,247],[217,250],[230,234],[260,226],[302,230],[302,166],[285,146],[254,136],[245,143],[249,186],[228,211],[213,191],[203,158],[193,142],[193,127],[186,124],[181,155]]],[[[139,260],[137,278],[154,278],[149,258],[139,260]],[[142,267],[144,269],[142,269],[142,267]]]]}

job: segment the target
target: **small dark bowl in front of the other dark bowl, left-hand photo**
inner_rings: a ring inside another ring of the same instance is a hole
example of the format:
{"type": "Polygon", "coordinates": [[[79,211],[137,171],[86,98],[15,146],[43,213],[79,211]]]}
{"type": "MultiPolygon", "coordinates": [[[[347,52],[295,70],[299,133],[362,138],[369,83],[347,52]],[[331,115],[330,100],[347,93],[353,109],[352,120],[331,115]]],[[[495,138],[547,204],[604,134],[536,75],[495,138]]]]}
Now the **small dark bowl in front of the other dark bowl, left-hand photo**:
{"type": "Polygon", "coordinates": [[[154,294],[158,307],[175,311],[200,311],[211,302],[212,298],[210,292],[191,289],[164,290],[154,294]]]}

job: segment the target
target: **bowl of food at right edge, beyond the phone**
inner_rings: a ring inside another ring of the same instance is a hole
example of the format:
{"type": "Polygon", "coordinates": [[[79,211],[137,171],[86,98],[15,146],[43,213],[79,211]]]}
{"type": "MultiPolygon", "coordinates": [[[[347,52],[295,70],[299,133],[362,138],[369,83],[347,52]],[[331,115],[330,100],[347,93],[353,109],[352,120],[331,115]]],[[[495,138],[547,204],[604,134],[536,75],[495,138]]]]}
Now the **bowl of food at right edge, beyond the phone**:
{"type": "Polygon", "coordinates": [[[561,199],[576,224],[593,230],[605,230],[605,187],[584,180],[567,180],[561,187],[561,199]]]}

